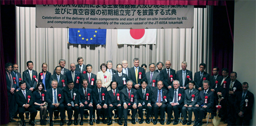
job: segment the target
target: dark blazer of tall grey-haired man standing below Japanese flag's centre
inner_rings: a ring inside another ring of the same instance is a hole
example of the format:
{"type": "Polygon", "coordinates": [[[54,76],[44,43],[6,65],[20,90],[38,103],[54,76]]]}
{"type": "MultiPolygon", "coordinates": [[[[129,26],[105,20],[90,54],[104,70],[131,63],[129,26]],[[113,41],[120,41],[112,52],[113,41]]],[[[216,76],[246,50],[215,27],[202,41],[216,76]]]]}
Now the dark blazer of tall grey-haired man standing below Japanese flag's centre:
{"type": "Polygon", "coordinates": [[[141,79],[146,78],[145,75],[145,69],[142,67],[139,67],[138,70],[138,83],[136,83],[136,76],[135,76],[135,69],[134,67],[128,69],[128,79],[131,80],[133,82],[133,87],[135,86],[135,84],[141,84],[141,79],[139,79],[139,73],[141,72],[141,79]]]}

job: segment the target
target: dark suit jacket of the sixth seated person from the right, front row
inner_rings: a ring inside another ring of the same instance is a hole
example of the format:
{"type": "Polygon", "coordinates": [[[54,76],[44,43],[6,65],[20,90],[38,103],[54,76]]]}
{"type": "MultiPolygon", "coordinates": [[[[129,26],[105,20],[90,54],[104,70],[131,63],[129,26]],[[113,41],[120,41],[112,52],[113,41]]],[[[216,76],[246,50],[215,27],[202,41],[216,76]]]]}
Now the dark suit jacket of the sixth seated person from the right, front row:
{"type": "MultiPolygon", "coordinates": [[[[145,69],[143,69],[145,71],[145,69]]],[[[137,104],[138,105],[138,101],[137,101],[137,90],[134,89],[134,88],[131,88],[130,90],[130,98],[129,98],[129,95],[128,95],[128,91],[127,91],[127,88],[123,88],[121,90],[121,101],[122,101],[122,104],[126,103],[130,103],[130,104],[137,104]],[[131,95],[134,95],[133,97],[133,102],[131,101],[131,95]]]]}

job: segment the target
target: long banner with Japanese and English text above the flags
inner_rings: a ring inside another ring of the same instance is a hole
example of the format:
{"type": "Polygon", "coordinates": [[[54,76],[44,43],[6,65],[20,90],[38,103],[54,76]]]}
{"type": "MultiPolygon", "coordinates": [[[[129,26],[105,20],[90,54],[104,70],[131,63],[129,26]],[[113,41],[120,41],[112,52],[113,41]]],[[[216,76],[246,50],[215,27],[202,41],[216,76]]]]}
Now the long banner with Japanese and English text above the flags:
{"type": "Polygon", "coordinates": [[[88,29],[193,28],[188,5],[36,5],[36,27],[88,29]]]}

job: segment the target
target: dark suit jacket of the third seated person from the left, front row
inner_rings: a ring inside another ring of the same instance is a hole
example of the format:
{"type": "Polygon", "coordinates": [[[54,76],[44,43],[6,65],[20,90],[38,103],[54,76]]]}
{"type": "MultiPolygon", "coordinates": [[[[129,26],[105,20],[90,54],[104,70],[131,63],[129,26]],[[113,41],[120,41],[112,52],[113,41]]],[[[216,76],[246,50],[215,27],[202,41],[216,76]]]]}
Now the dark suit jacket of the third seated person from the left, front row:
{"type": "MultiPolygon", "coordinates": [[[[46,92],[46,102],[48,104],[53,104],[53,88],[50,88],[50,89],[47,89],[47,92],[46,92]]],[[[63,94],[63,91],[61,88],[56,88],[57,89],[57,101],[62,104],[64,103],[64,94],[63,94]],[[61,94],[61,99],[59,99],[59,94],[61,94]]],[[[49,106],[49,105],[48,105],[49,106]]]]}

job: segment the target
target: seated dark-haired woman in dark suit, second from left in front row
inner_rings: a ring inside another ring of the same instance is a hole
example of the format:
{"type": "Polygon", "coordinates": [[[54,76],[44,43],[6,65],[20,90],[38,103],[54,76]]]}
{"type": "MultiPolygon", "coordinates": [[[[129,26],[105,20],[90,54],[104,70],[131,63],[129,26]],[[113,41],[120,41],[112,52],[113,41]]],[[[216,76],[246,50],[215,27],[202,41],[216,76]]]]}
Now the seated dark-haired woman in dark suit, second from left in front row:
{"type": "Polygon", "coordinates": [[[34,96],[34,108],[36,110],[40,110],[40,125],[46,125],[46,112],[47,106],[45,98],[46,98],[46,91],[44,90],[44,85],[42,82],[39,82],[36,86],[36,91],[33,92],[34,96]]]}

